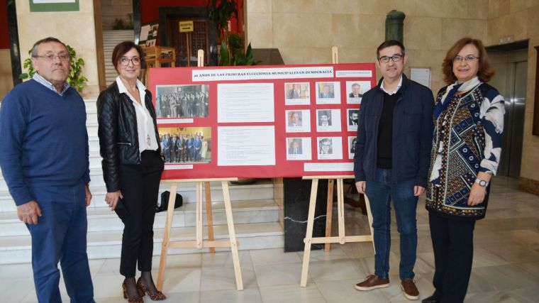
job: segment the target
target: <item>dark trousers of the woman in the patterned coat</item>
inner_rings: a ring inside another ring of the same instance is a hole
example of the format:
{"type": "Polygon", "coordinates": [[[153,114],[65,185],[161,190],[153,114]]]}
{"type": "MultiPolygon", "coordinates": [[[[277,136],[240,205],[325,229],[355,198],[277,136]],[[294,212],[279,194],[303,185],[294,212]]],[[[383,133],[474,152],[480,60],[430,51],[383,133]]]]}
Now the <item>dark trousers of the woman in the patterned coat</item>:
{"type": "Polygon", "coordinates": [[[472,273],[475,221],[448,219],[429,211],[438,302],[464,302],[472,273]]]}

